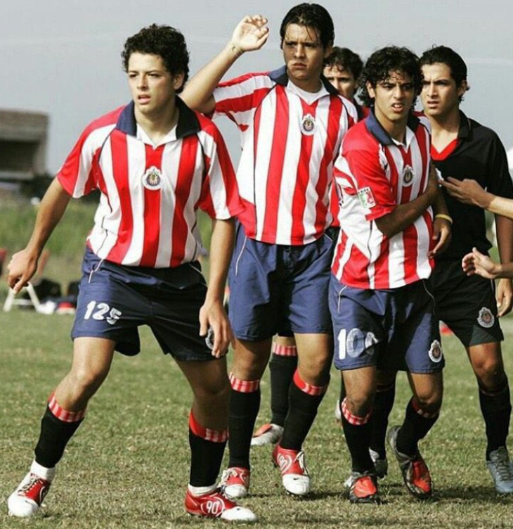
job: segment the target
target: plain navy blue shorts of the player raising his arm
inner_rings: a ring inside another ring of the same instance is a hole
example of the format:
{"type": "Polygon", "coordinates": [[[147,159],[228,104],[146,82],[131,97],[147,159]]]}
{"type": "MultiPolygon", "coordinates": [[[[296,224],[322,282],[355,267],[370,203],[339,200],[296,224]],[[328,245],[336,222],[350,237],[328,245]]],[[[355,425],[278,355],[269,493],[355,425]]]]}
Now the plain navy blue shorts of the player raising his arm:
{"type": "Polygon", "coordinates": [[[237,227],[230,264],[230,322],[241,340],[276,333],[332,333],[327,295],[333,241],[324,235],[304,246],[268,244],[237,227]]]}

